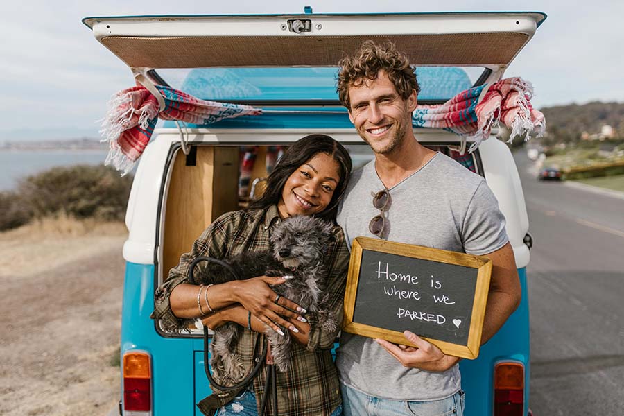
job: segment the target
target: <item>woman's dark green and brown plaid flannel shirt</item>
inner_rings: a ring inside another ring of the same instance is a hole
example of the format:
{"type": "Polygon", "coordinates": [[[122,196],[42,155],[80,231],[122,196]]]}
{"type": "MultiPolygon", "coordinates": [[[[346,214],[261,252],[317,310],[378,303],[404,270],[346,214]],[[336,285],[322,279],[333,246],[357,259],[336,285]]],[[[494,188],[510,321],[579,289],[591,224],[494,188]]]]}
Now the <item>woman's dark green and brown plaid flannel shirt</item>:
{"type": "MultiPolygon", "coordinates": [[[[166,331],[180,333],[186,331],[189,320],[182,320],[173,315],[169,305],[169,295],[173,288],[188,281],[190,263],[197,256],[209,256],[227,259],[245,251],[264,251],[269,249],[269,237],[272,227],[279,223],[277,207],[257,211],[235,211],[220,216],[195,241],[191,252],[182,254],[180,264],[172,268],[168,279],[155,294],[156,307],[151,317],[159,319],[166,331]]],[[[343,320],[343,298],[349,266],[349,251],[343,230],[333,228],[335,241],[329,245],[327,253],[327,291],[329,305],[338,322],[343,320]]],[[[201,268],[205,263],[199,263],[201,268]]],[[[331,347],[337,332],[322,331],[310,317],[311,331],[308,345],[291,344],[292,365],[287,373],[277,372],[277,406],[279,415],[320,416],[331,415],[341,403],[340,387],[336,366],[331,356],[331,347]]],[[[252,368],[254,358],[260,356],[264,347],[264,337],[256,332],[243,330],[243,335],[236,346],[245,368],[252,368]],[[255,351],[257,337],[258,351],[255,351]]],[[[214,370],[213,370],[214,371],[214,370]]],[[[259,408],[264,395],[264,380],[267,368],[262,365],[253,380],[253,390],[259,408]]],[[[220,379],[218,372],[215,379],[220,379]]],[[[241,391],[221,392],[213,388],[213,394],[198,403],[205,415],[214,415],[216,410],[232,401],[241,391]]],[[[272,402],[268,400],[268,415],[272,414],[272,402]]]]}

